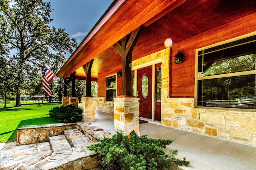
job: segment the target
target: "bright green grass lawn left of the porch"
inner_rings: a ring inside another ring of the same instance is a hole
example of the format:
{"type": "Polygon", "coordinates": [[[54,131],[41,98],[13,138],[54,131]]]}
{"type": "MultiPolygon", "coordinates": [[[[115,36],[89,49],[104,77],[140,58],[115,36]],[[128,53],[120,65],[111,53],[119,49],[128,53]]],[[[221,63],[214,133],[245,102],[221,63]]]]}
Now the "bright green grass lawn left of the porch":
{"type": "MultiPolygon", "coordinates": [[[[0,142],[11,142],[16,140],[16,129],[25,125],[45,125],[55,123],[54,119],[48,117],[49,110],[55,106],[61,106],[60,103],[52,104],[33,104],[33,102],[21,102],[22,107],[13,107],[14,102],[3,109],[3,103],[0,107],[0,142]]],[[[7,104],[7,103],[6,103],[7,104]]]]}

